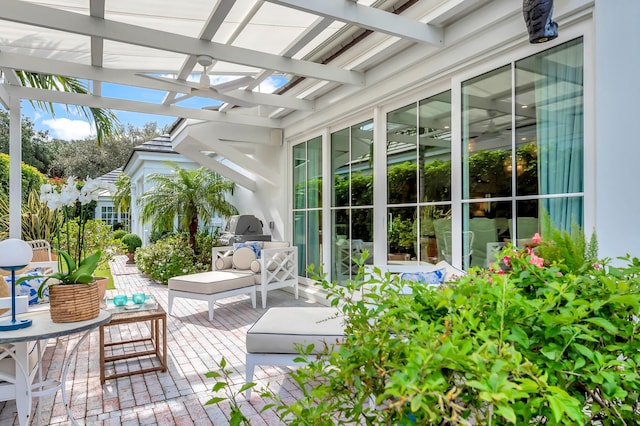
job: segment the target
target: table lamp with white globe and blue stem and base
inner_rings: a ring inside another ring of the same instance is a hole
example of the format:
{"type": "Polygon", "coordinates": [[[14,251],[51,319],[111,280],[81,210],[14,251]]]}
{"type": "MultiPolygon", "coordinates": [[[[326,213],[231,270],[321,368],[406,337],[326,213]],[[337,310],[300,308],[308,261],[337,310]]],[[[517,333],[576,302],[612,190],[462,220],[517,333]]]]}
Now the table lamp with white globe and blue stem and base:
{"type": "Polygon", "coordinates": [[[17,330],[31,325],[30,319],[16,319],[16,271],[31,262],[33,250],[26,242],[9,238],[0,242],[0,268],[11,271],[11,319],[0,323],[0,331],[17,330]]]}

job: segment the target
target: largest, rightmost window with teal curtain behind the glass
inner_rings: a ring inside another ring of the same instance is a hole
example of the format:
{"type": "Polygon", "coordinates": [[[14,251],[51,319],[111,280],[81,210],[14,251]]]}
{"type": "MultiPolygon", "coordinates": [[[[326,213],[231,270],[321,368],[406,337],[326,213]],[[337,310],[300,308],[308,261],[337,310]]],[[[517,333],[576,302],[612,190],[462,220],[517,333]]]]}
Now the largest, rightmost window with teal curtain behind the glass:
{"type": "Polygon", "coordinates": [[[544,217],[583,224],[583,59],[574,40],[462,85],[463,246],[487,266],[523,244],[544,217]]]}

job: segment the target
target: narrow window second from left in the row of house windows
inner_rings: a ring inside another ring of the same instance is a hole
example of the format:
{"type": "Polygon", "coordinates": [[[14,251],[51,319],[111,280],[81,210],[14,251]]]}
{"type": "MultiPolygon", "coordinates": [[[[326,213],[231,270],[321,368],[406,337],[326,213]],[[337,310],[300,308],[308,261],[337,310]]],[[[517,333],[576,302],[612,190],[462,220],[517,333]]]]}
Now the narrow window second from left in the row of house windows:
{"type": "Polygon", "coordinates": [[[331,276],[342,282],[358,271],[353,262],[368,250],[373,259],[373,121],[331,134],[331,276]]]}

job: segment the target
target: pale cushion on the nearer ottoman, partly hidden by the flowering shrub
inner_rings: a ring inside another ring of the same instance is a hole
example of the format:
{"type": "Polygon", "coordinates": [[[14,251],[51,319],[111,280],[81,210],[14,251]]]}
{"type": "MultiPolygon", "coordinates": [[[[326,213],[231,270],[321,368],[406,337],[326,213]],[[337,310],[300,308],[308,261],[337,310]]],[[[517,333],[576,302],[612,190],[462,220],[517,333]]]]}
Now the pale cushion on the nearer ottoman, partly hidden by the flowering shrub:
{"type": "Polygon", "coordinates": [[[247,331],[247,352],[297,354],[297,345],[314,344],[322,352],[344,337],[344,324],[336,308],[280,307],[265,312],[247,331]]]}

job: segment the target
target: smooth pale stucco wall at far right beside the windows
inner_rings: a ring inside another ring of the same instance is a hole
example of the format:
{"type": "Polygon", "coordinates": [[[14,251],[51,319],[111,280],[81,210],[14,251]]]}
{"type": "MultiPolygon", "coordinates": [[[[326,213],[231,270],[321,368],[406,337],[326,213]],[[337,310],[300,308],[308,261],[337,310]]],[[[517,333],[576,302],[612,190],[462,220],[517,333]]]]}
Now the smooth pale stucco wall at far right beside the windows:
{"type": "Polygon", "coordinates": [[[595,8],[596,229],[601,256],[640,256],[640,1],[595,8]]]}

